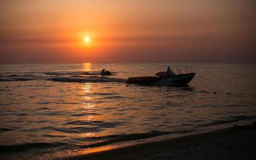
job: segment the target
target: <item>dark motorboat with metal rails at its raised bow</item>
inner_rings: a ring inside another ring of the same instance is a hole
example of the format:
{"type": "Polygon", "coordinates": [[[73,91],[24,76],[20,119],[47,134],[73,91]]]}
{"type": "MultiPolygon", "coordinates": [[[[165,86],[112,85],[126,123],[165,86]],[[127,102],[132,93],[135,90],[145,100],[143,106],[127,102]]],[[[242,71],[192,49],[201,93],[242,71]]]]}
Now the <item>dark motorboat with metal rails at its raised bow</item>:
{"type": "Polygon", "coordinates": [[[126,80],[129,84],[142,84],[142,85],[172,85],[172,84],[187,84],[195,76],[195,72],[190,67],[185,68],[186,73],[183,74],[180,69],[173,72],[172,76],[168,76],[166,72],[158,72],[156,76],[143,76],[143,77],[131,77],[126,80]]]}

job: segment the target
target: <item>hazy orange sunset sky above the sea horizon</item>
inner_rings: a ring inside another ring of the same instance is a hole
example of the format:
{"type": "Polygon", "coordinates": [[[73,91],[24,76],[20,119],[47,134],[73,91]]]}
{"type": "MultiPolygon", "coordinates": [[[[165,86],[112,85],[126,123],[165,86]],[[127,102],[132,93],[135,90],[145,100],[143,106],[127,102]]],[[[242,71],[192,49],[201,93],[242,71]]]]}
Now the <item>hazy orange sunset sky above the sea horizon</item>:
{"type": "Polygon", "coordinates": [[[2,64],[256,62],[256,0],[1,0],[0,13],[2,64]]]}

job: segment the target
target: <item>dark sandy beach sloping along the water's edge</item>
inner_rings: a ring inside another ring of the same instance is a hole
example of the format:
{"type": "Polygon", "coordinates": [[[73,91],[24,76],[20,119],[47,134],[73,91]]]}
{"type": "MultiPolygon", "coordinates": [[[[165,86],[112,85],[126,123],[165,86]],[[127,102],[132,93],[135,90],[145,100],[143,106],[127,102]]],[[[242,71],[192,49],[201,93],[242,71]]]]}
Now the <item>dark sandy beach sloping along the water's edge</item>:
{"type": "MultiPolygon", "coordinates": [[[[256,122],[61,160],[256,160],[256,122]]],[[[60,159],[58,159],[60,160],[60,159]]]]}

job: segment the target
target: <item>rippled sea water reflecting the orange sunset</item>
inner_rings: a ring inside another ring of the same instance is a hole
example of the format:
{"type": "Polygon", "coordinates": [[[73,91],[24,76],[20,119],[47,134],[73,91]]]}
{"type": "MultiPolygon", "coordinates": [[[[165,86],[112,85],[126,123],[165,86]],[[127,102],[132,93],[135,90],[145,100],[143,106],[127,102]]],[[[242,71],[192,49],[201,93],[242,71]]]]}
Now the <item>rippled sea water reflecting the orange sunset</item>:
{"type": "Polygon", "coordinates": [[[256,64],[247,63],[1,65],[0,159],[50,160],[254,120],[255,82],[256,64]],[[185,86],[125,84],[167,66],[196,76],[185,86]]]}

